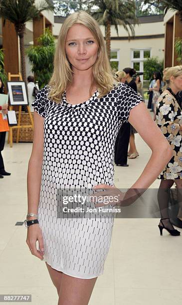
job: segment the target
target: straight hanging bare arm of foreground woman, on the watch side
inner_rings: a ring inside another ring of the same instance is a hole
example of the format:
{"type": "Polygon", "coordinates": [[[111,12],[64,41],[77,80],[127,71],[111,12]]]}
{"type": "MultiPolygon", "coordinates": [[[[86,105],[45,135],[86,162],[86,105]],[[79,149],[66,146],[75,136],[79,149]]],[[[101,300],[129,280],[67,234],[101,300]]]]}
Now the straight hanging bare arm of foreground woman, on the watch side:
{"type": "MultiPolygon", "coordinates": [[[[36,111],[34,111],[33,120],[34,120],[33,147],[28,162],[27,195],[28,195],[28,213],[37,214],[39,195],[40,195],[43,145],[44,145],[43,144],[44,118],[42,118],[36,111]]],[[[31,219],[35,219],[35,217],[28,218],[28,220],[31,219]]]]}

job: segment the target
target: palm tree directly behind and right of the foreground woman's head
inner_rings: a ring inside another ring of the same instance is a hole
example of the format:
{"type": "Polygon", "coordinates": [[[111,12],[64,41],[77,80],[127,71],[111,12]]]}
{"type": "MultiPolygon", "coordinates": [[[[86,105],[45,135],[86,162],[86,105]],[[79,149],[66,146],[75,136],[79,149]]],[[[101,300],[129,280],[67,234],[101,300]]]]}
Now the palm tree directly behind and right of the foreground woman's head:
{"type": "Polygon", "coordinates": [[[138,23],[136,5],[134,0],[93,0],[91,1],[96,10],[91,11],[92,16],[99,24],[105,25],[105,37],[108,57],[111,56],[111,26],[114,25],[118,34],[118,25],[122,25],[134,36],[134,26],[138,23]]]}

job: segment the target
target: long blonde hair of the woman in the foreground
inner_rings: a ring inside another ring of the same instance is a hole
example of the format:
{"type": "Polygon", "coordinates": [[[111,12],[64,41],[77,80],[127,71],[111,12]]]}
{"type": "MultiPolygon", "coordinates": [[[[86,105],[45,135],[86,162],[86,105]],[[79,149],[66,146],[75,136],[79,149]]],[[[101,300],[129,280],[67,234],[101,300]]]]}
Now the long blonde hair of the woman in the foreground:
{"type": "Polygon", "coordinates": [[[99,91],[98,98],[106,95],[117,83],[111,71],[104,37],[99,24],[85,11],[74,12],[65,19],[60,29],[54,55],[54,70],[48,83],[50,86],[48,97],[56,103],[60,102],[68,84],[72,82],[72,69],[66,56],[65,41],[68,30],[76,23],[86,26],[92,32],[98,45],[98,56],[92,67],[93,80],[99,91]]]}

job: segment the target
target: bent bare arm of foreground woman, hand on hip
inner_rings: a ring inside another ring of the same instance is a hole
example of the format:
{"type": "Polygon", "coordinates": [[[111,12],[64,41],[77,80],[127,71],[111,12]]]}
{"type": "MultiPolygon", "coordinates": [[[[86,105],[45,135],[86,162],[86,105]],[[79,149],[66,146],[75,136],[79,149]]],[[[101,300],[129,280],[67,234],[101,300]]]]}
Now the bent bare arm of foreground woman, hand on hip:
{"type": "Polygon", "coordinates": [[[153,121],[144,103],[131,109],[128,121],[152,150],[146,167],[131,187],[146,189],[157,179],[170,161],[173,150],[160,128],[153,121]]]}

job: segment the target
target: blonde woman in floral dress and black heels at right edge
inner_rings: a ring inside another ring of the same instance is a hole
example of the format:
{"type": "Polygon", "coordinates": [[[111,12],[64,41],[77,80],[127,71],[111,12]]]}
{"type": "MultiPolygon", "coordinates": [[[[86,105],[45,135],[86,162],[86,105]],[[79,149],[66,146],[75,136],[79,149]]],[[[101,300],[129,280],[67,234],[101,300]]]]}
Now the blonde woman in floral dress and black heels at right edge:
{"type": "MultiPolygon", "coordinates": [[[[158,99],[156,123],[168,140],[173,150],[173,157],[159,175],[161,179],[158,191],[158,201],[161,211],[159,228],[163,228],[173,236],[180,235],[170,221],[168,190],[175,182],[178,189],[178,202],[182,208],[182,108],[178,103],[177,94],[182,90],[182,66],[166,68],[164,70],[166,87],[158,99]]],[[[182,221],[178,220],[182,227],[182,221]]]]}

